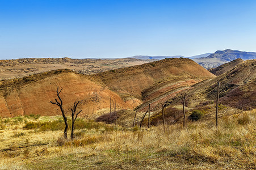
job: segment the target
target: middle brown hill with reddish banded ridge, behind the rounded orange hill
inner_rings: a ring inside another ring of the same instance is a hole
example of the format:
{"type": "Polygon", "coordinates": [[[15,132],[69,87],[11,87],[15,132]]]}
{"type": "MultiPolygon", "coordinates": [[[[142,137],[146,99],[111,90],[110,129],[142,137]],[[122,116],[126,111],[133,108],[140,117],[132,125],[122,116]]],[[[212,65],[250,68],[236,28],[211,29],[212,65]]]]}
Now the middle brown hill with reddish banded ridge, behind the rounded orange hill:
{"type": "MultiPolygon", "coordinates": [[[[91,75],[124,100],[136,98],[147,103],[166,101],[177,92],[204,79],[214,78],[202,66],[188,58],[166,58],[143,65],[91,75]]],[[[139,109],[143,109],[144,106],[139,109]]]]}

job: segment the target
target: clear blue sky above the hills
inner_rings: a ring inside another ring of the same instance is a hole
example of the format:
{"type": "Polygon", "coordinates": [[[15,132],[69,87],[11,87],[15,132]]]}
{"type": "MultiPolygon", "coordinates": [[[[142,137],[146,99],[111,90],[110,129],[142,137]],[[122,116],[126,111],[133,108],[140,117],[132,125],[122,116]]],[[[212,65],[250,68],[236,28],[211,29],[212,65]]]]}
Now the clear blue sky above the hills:
{"type": "Polygon", "coordinates": [[[256,52],[256,1],[0,0],[0,59],[256,52]]]}

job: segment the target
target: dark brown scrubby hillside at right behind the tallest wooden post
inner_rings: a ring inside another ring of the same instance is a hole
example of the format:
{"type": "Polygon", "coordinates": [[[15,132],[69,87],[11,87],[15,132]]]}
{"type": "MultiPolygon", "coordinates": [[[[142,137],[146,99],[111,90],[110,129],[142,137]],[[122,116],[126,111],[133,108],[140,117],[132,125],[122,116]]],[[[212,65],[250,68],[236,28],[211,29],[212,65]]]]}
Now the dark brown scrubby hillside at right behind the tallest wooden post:
{"type": "MultiPolygon", "coordinates": [[[[220,80],[220,103],[238,109],[256,108],[256,59],[244,61],[217,76],[204,80],[187,90],[187,107],[213,103],[216,98],[217,81],[220,80]]],[[[175,106],[182,103],[184,92],[169,100],[166,105],[175,106]]]]}

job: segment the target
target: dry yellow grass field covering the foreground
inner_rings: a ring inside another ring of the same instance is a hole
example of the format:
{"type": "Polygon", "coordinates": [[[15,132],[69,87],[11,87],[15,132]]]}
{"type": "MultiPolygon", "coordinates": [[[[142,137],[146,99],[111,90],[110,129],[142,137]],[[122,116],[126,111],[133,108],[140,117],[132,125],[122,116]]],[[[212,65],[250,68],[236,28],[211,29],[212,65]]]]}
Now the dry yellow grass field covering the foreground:
{"type": "MultiPolygon", "coordinates": [[[[25,118],[24,118],[25,119],[25,118]]],[[[43,120],[39,118],[38,121],[43,120]]],[[[37,120],[35,120],[37,121],[37,120]]],[[[253,169],[256,111],[148,129],[77,129],[74,141],[60,130],[35,131],[0,121],[0,169],[253,169]],[[9,124],[9,125],[8,125],[9,124]],[[14,136],[16,133],[24,135],[14,136]],[[5,150],[5,151],[3,151],[5,150]]],[[[23,126],[22,126],[23,125],[23,126]]]]}

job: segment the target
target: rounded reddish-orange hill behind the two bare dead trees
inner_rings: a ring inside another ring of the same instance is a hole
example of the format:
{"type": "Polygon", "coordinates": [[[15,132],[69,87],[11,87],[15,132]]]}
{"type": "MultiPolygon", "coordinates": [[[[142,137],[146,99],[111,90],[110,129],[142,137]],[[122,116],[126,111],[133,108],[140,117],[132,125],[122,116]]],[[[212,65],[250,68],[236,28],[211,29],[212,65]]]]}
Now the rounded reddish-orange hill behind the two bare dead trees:
{"type": "Polygon", "coordinates": [[[115,92],[91,82],[86,76],[70,70],[57,70],[2,81],[0,116],[60,114],[59,108],[49,103],[57,97],[57,86],[63,88],[61,97],[66,112],[70,112],[70,107],[75,100],[81,100],[82,114],[89,117],[108,108],[109,97],[115,97],[117,108],[132,109],[137,105],[137,102],[125,103],[115,92]]]}

